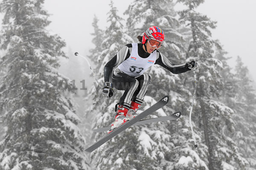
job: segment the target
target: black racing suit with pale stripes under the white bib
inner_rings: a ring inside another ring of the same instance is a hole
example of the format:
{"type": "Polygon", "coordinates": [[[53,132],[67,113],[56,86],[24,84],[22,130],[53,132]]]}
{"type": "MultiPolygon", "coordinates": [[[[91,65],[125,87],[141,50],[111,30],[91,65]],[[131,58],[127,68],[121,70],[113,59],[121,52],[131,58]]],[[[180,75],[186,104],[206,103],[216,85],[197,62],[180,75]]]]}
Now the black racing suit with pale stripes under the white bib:
{"type": "MultiPolygon", "coordinates": [[[[148,74],[144,73],[139,77],[132,77],[117,68],[117,66],[130,57],[131,50],[132,44],[123,46],[123,48],[105,65],[104,68],[105,82],[111,82],[118,90],[125,90],[120,98],[119,105],[122,105],[127,109],[130,108],[131,101],[142,104],[151,80],[151,77],[148,74]]],[[[138,55],[141,58],[148,58],[150,55],[150,53],[145,52],[142,43],[138,43],[138,55]]],[[[187,63],[173,64],[158,50],[155,64],[163,66],[174,74],[180,74],[190,70],[187,63]]]]}

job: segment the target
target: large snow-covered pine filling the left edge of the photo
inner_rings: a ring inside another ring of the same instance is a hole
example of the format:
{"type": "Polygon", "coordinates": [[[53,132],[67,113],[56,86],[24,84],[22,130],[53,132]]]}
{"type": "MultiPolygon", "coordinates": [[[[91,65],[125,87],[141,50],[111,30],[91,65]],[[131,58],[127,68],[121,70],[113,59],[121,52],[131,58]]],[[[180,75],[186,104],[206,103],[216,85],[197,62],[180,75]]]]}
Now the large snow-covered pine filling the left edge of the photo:
{"type": "Polygon", "coordinates": [[[1,119],[7,126],[0,142],[3,170],[89,170],[79,118],[64,89],[72,90],[57,72],[65,57],[61,37],[47,31],[44,0],[4,0],[0,69],[1,119]]]}

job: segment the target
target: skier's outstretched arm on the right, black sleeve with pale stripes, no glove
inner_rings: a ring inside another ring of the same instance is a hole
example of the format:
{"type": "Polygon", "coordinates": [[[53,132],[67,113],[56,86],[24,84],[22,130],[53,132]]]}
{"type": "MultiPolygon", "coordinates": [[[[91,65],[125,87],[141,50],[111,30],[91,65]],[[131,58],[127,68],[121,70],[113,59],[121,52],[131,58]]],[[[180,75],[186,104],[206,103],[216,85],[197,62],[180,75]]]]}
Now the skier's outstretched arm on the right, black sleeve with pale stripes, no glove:
{"type": "Polygon", "coordinates": [[[156,60],[155,64],[158,64],[158,65],[162,66],[163,68],[168,69],[173,74],[180,74],[180,73],[187,72],[187,71],[191,70],[188,67],[188,63],[173,64],[166,58],[165,55],[163,55],[159,51],[157,51],[157,60],[156,60]]]}

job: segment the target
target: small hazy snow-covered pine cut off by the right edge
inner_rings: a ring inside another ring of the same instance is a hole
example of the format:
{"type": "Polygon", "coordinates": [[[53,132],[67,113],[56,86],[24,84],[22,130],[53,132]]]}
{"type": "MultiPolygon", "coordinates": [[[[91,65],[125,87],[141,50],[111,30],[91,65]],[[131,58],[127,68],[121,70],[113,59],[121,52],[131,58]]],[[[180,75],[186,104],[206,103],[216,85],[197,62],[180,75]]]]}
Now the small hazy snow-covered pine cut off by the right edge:
{"type": "Polygon", "coordinates": [[[233,76],[234,96],[230,98],[236,124],[233,139],[247,159],[246,169],[256,170],[256,95],[247,66],[237,57],[233,76]]]}

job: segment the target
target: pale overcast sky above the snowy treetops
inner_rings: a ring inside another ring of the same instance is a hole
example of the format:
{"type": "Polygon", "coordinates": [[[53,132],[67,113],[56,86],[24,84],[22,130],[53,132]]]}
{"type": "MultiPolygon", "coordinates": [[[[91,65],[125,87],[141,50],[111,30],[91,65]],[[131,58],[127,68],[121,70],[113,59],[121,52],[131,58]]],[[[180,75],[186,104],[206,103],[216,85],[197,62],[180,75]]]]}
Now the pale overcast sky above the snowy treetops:
{"type": "MultiPolygon", "coordinates": [[[[119,15],[133,0],[113,0],[119,15]]],[[[110,0],[45,0],[49,20],[52,21],[48,29],[59,34],[67,43],[67,49],[87,55],[93,47],[91,43],[93,33],[93,16],[99,18],[102,29],[106,27],[107,12],[110,0]]],[[[235,66],[236,56],[250,70],[256,80],[256,0],[206,0],[197,9],[212,20],[217,21],[217,28],[212,30],[212,37],[219,39],[232,56],[230,66],[235,66]]],[[[126,18],[127,16],[123,16],[126,18]]],[[[131,42],[127,42],[131,43],[131,42]]]]}

